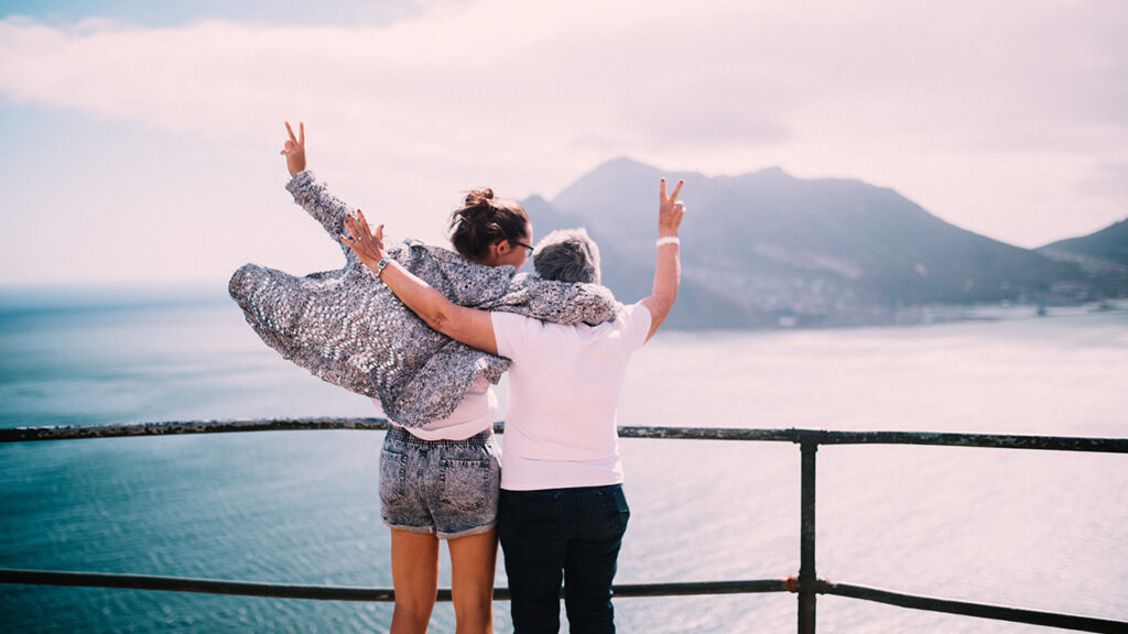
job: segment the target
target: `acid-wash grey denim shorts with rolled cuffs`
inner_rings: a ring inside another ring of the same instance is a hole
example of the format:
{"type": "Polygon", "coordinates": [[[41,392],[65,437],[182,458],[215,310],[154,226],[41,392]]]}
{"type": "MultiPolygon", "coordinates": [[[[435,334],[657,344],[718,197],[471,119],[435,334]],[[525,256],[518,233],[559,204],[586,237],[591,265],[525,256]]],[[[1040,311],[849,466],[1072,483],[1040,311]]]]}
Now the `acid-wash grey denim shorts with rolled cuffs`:
{"type": "Polygon", "coordinates": [[[380,451],[380,517],[398,530],[451,539],[497,523],[501,448],[493,430],[423,440],[388,428],[380,451]]]}

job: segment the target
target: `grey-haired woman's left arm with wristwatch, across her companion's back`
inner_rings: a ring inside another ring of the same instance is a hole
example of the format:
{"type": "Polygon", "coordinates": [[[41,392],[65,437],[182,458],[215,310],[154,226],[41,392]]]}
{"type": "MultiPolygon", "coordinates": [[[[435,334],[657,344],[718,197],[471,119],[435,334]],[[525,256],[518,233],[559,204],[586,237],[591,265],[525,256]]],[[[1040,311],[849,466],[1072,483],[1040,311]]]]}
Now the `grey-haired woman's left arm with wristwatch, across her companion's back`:
{"type": "Polygon", "coordinates": [[[369,229],[363,212],[358,210],[356,217],[356,220],[345,217],[344,224],[349,235],[342,236],[341,243],[351,248],[396,293],[399,301],[448,337],[490,354],[497,354],[497,341],[488,311],[451,302],[398,262],[389,259],[384,248],[384,224],[373,232],[369,229]]]}

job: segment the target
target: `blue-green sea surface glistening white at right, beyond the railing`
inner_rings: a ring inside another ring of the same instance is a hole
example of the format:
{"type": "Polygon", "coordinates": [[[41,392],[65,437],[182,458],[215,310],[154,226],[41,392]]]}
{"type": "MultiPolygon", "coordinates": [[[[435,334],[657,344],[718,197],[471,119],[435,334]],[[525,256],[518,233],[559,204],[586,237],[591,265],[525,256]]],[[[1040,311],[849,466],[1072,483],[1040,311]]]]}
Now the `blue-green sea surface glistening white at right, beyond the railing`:
{"type": "MultiPolygon", "coordinates": [[[[1032,312],[1032,311],[1029,311],[1032,312]]],[[[914,327],[662,332],[624,425],[1128,437],[1128,310],[914,327]]],[[[221,294],[0,292],[0,425],[380,415],[262,344],[221,294]]],[[[391,587],[381,432],[0,446],[0,566],[391,587]]],[[[622,441],[618,583],[799,569],[799,449],[622,441]]],[[[443,557],[440,583],[449,587],[443,557]]],[[[822,447],[818,572],[1128,620],[1128,457],[822,447]]],[[[497,584],[506,584],[502,566],[497,584]]],[[[511,632],[509,604],[494,605],[511,632]]],[[[626,633],[794,632],[785,593],[616,600],[626,633]]],[[[381,632],[388,604],[0,585],[0,632],[381,632]]],[[[820,597],[819,632],[1051,629],[820,597]]],[[[440,604],[433,632],[453,631],[440,604]]]]}

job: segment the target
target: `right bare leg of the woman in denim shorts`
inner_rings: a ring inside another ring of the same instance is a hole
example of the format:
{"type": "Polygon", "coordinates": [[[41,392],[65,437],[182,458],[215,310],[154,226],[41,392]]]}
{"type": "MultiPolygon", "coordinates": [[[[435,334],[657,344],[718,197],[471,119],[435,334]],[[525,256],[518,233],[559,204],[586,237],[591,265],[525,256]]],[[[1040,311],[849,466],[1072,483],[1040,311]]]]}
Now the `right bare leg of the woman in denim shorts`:
{"type": "Polygon", "coordinates": [[[493,634],[497,529],[448,540],[457,634],[493,634]]]}

